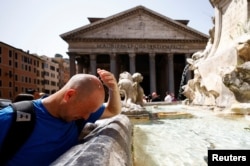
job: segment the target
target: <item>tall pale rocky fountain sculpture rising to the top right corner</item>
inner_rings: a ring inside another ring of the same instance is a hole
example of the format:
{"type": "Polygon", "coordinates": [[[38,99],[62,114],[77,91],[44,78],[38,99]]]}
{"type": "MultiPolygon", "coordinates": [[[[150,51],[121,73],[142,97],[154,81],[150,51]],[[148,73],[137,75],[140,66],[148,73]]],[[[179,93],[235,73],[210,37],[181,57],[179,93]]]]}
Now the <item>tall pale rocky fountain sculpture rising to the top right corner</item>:
{"type": "Polygon", "coordinates": [[[205,50],[187,59],[194,78],[182,87],[186,103],[227,108],[249,103],[250,21],[237,14],[248,13],[249,2],[210,2],[215,8],[214,27],[205,50]]]}

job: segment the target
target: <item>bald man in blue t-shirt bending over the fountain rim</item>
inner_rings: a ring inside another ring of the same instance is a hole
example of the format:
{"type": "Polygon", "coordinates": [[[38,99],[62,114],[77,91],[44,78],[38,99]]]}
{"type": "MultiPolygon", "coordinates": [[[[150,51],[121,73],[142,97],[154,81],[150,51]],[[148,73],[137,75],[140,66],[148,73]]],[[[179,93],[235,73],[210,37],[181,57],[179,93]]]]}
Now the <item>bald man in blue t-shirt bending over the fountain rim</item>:
{"type": "MultiPolygon", "coordinates": [[[[87,122],[120,113],[120,94],[114,75],[101,69],[97,73],[101,80],[90,74],[76,74],[56,93],[33,100],[36,113],[34,130],[17,153],[7,161],[7,165],[49,165],[78,143],[76,120],[82,119],[84,126],[87,122]],[[109,88],[109,99],[105,105],[101,81],[109,88]]],[[[12,116],[12,107],[0,111],[0,148],[3,147],[12,116]]],[[[0,160],[2,158],[0,156],[0,160]]]]}

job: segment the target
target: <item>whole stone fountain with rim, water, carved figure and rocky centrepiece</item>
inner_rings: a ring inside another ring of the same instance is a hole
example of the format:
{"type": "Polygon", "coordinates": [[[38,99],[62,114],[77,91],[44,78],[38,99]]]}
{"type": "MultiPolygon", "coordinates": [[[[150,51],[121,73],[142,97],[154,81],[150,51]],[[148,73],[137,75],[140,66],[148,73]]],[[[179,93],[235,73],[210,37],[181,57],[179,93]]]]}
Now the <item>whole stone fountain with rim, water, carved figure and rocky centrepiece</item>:
{"type": "Polygon", "coordinates": [[[205,50],[187,59],[183,71],[183,75],[188,69],[194,71],[187,85],[180,84],[179,92],[187,97],[185,104],[144,104],[142,75],[121,73],[118,84],[124,98],[123,115],[88,131],[84,143],[54,165],[81,161],[93,165],[95,161],[96,165],[205,166],[209,149],[250,149],[250,2],[210,3],[215,10],[210,39],[205,50]],[[102,139],[94,142],[97,135],[102,139]]]}

